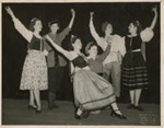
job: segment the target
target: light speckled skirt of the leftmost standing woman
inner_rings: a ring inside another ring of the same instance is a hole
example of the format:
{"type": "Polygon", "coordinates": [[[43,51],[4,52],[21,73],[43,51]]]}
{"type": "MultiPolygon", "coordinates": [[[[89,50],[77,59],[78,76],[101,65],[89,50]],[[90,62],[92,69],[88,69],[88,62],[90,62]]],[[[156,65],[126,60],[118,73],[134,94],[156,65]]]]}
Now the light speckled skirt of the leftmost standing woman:
{"type": "Polygon", "coordinates": [[[47,90],[47,65],[42,51],[28,50],[23,66],[20,90],[47,90]]]}

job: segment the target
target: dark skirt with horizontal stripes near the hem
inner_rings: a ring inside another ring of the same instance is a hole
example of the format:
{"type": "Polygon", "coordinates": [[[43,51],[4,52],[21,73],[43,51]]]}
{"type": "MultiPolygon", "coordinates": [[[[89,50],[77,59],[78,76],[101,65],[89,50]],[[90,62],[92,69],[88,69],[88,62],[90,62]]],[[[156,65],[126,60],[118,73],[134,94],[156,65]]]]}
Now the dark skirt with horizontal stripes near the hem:
{"type": "Polygon", "coordinates": [[[129,90],[147,89],[149,84],[145,61],[140,51],[127,53],[122,59],[122,85],[129,90]]]}

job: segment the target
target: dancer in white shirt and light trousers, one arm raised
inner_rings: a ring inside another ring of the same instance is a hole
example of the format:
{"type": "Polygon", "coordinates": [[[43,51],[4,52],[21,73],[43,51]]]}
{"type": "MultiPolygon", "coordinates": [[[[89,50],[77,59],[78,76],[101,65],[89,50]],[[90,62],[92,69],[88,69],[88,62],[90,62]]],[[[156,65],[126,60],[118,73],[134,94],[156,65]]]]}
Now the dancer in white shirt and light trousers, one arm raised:
{"type": "Polygon", "coordinates": [[[104,72],[107,74],[107,78],[112,77],[114,92],[116,97],[120,96],[120,65],[121,58],[125,55],[126,50],[124,47],[122,38],[113,34],[113,25],[109,22],[102,24],[102,32],[104,37],[99,36],[93,24],[94,12],[90,13],[90,32],[93,38],[96,40],[97,45],[105,51],[107,45],[110,45],[110,53],[103,61],[104,72]]]}

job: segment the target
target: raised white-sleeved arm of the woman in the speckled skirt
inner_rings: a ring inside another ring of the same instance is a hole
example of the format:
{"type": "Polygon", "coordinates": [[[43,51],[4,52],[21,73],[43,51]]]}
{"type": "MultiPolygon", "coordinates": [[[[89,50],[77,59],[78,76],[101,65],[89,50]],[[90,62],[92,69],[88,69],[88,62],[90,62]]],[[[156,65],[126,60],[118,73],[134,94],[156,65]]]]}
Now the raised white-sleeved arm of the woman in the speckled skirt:
{"type": "Polygon", "coordinates": [[[19,19],[15,18],[15,15],[10,7],[7,7],[5,10],[7,10],[7,13],[12,18],[12,21],[14,22],[14,26],[15,26],[16,31],[30,43],[33,37],[33,33],[31,31],[28,31],[21,23],[21,21],[19,21],[19,19]]]}

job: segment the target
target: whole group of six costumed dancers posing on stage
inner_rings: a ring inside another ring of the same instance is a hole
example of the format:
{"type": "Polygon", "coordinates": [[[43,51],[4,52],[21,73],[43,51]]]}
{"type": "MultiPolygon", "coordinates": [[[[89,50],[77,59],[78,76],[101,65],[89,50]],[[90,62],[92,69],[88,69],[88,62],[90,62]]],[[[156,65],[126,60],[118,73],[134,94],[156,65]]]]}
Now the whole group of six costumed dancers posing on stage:
{"type": "Polygon", "coordinates": [[[83,44],[77,36],[71,36],[70,50],[61,47],[75,19],[73,9],[68,27],[57,33],[59,22],[54,20],[48,23],[50,31],[45,36],[39,34],[43,28],[39,19],[32,19],[30,28],[26,28],[10,7],[5,10],[11,15],[16,31],[28,43],[20,85],[20,90],[30,90],[28,108],[35,109],[37,114],[42,112],[42,90],[48,90],[48,108],[59,108],[55,100],[65,74],[66,60],[61,56],[63,55],[71,66],[77,119],[85,118],[90,113],[108,106],[112,109],[110,116],[127,119],[116,102],[116,97],[120,96],[120,82],[129,90],[130,104],[127,108],[143,110],[139,100],[142,90],[149,84],[145,43],[153,37],[153,28],[157,21],[156,7],[152,8],[154,18],[149,27],[142,30],[139,21],[131,21],[128,26],[129,34],[124,37],[114,35],[113,25],[108,22],[102,24],[104,36],[101,37],[94,26],[94,12],[90,12],[89,27],[95,42],[86,45],[85,54],[81,51],[83,44]],[[103,49],[101,55],[98,46],[103,49]],[[57,57],[56,50],[61,55],[57,57]]]}

